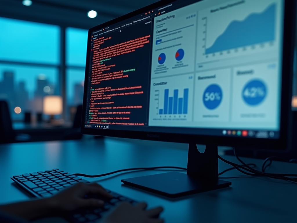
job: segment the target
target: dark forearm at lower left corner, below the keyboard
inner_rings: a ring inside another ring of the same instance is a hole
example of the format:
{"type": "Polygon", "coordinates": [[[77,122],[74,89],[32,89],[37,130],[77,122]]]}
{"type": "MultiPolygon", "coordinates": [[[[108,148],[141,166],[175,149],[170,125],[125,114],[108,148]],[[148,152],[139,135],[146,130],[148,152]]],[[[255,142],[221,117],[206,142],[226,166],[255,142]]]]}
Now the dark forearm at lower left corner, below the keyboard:
{"type": "Polygon", "coordinates": [[[23,219],[32,220],[51,215],[57,211],[57,206],[51,199],[44,198],[1,205],[0,210],[23,219]]]}

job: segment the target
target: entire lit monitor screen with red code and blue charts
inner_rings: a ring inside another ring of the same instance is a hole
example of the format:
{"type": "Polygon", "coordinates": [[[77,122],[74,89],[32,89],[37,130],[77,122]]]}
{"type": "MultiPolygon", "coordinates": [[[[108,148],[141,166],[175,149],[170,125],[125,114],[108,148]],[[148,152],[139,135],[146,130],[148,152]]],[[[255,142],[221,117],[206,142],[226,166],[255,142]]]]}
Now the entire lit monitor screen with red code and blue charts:
{"type": "Polygon", "coordinates": [[[85,127],[278,137],[283,9],[174,1],[92,31],[85,127]]]}

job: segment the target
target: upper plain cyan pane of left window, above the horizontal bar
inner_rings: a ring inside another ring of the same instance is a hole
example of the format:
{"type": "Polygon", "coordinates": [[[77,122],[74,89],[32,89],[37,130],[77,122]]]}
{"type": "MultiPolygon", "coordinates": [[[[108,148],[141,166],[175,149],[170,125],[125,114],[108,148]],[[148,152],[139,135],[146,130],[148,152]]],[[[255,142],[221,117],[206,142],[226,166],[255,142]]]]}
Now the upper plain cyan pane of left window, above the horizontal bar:
{"type": "Polygon", "coordinates": [[[60,63],[60,27],[0,18],[0,60],[60,63]]]}

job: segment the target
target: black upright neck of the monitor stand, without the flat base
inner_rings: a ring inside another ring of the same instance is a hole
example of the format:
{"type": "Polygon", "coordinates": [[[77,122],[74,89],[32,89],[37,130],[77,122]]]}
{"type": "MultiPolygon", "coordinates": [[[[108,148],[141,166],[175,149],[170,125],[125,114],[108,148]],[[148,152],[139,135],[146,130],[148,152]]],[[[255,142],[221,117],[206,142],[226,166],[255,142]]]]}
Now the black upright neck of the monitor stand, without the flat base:
{"type": "Polygon", "coordinates": [[[218,146],[189,143],[187,175],[208,182],[219,180],[218,146]],[[205,151],[199,152],[198,147],[205,151]]]}

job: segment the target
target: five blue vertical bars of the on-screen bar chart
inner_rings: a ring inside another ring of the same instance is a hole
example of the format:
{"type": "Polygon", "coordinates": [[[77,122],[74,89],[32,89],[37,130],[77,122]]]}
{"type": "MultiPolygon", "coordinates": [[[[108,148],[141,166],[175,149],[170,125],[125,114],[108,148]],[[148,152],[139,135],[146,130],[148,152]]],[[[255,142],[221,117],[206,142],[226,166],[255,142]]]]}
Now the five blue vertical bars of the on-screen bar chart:
{"type": "Polygon", "coordinates": [[[169,89],[164,90],[164,105],[159,109],[159,114],[188,114],[189,88],[185,88],[182,98],[178,98],[178,89],[173,90],[169,96],[169,89]]]}

